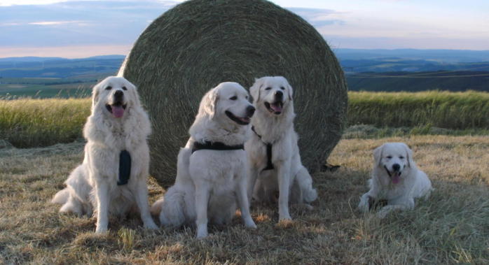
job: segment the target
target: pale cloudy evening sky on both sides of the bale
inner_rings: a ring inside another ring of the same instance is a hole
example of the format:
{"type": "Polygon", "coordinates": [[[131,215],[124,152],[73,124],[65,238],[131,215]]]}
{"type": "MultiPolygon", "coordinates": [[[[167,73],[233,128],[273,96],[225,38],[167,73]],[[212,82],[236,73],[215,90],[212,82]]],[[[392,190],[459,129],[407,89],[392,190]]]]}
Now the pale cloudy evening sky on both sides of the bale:
{"type": "MultiPolygon", "coordinates": [[[[126,55],[172,0],[0,0],[0,57],[126,55]]],[[[331,48],[489,50],[488,0],[275,0],[331,48]]]]}

